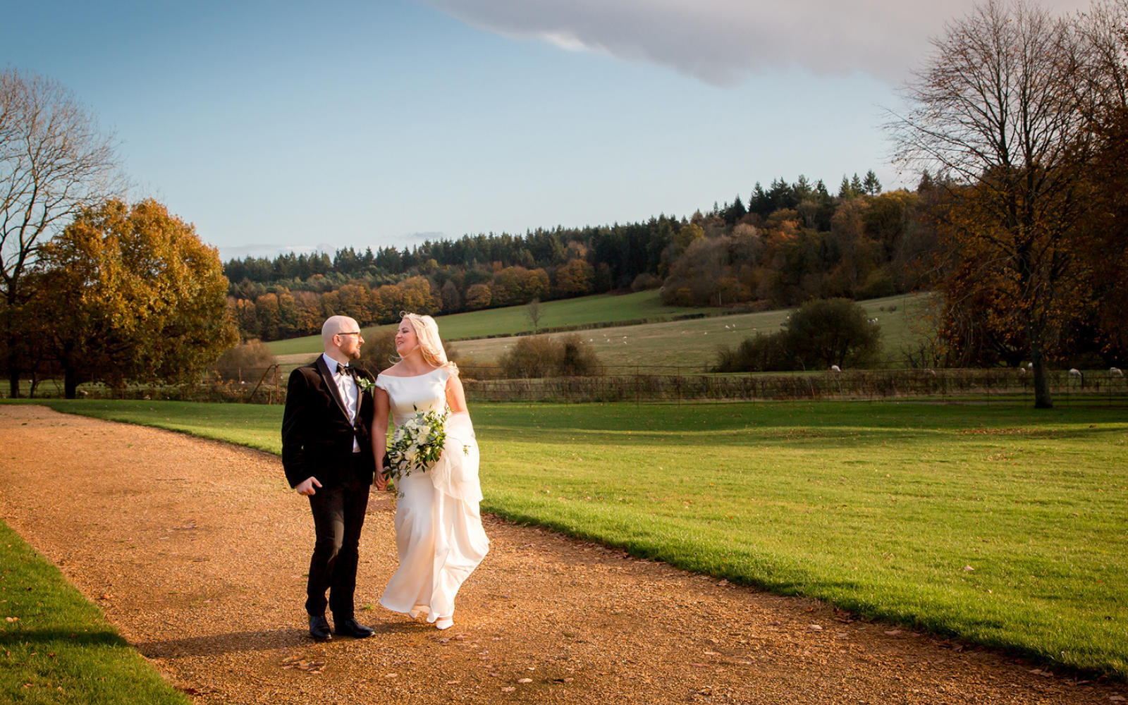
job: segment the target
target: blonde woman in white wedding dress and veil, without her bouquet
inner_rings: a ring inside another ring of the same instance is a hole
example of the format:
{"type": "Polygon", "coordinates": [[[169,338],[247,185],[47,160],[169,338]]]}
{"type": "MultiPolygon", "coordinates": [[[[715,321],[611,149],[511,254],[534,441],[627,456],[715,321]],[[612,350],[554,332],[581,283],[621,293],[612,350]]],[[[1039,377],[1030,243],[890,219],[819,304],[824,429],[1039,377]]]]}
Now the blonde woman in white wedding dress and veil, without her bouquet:
{"type": "MultiPolygon", "coordinates": [[[[416,411],[450,408],[439,460],[396,481],[396,552],[399,567],[380,598],[384,607],[412,617],[425,611],[440,629],[453,625],[455,594],[490,549],[478,502],[478,446],[458,367],[447,360],[430,316],[404,314],[396,331],[399,362],[376,378],[372,447],[387,450],[388,414],[399,426],[416,411]]],[[[378,472],[377,487],[386,485],[378,472]]]]}

